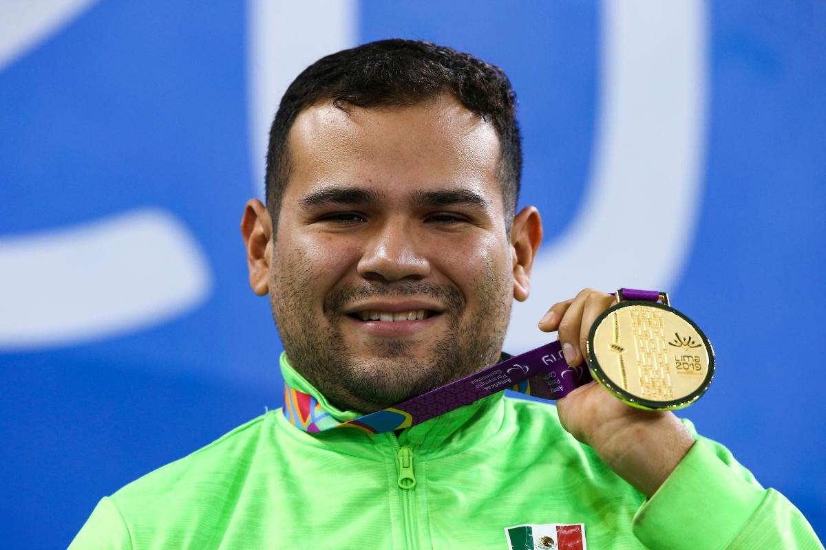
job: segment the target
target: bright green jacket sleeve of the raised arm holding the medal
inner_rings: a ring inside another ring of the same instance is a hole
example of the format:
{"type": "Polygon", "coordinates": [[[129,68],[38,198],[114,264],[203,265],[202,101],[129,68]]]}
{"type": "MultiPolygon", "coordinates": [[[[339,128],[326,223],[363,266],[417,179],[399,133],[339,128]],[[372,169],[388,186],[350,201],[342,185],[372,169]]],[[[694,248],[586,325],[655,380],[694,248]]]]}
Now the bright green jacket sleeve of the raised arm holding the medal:
{"type": "Polygon", "coordinates": [[[640,542],[673,550],[823,550],[809,522],[786,497],[763,489],[722,445],[695,438],[688,454],[634,516],[634,535],[640,542]]]}

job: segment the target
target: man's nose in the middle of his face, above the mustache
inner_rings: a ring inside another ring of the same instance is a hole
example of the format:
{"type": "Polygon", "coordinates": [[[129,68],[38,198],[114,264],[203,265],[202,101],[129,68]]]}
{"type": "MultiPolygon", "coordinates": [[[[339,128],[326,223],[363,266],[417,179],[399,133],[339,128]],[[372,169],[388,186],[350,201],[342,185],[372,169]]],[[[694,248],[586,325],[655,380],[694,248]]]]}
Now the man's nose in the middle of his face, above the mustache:
{"type": "Polygon", "coordinates": [[[388,219],[365,242],[358,275],[368,280],[424,279],[430,262],[404,219],[388,219]]]}

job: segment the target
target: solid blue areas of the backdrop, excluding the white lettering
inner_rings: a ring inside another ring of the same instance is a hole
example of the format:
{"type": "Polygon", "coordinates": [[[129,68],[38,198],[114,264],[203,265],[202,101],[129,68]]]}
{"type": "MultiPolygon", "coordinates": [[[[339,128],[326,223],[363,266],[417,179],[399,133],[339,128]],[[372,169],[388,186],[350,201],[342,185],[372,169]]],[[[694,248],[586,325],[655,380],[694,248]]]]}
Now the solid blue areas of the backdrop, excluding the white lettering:
{"type": "MultiPolygon", "coordinates": [[[[424,38],[506,70],[525,136],[521,203],[553,212],[552,242],[591,168],[599,7],[476,6],[361,2],[358,41],[424,38]]],[[[823,537],[826,7],[719,2],[708,15],[700,218],[670,290],[714,341],[719,374],[684,414],[823,537]]],[[[254,177],[247,32],[232,2],[100,2],[0,71],[0,239],[160,205],[213,280],[169,322],[0,350],[6,548],[65,547],[101,496],[281,405],[278,335],[247,286],[238,229],[254,177]]]]}

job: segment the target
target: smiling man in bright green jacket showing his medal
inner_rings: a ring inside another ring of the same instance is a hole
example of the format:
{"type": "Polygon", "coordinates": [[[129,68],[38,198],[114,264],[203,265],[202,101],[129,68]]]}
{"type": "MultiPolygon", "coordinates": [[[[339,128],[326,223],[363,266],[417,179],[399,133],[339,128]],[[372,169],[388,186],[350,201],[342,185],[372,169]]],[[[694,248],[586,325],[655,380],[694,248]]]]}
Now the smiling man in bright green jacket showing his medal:
{"type": "MultiPolygon", "coordinates": [[[[301,73],[241,223],[284,411],[104,498],[72,548],[822,548],[719,444],[596,383],[333,427],[500,360],[542,238],[520,165],[510,82],[468,54],[383,40],[301,73]]],[[[586,289],[539,327],[578,365],[613,303],[586,289]]]]}

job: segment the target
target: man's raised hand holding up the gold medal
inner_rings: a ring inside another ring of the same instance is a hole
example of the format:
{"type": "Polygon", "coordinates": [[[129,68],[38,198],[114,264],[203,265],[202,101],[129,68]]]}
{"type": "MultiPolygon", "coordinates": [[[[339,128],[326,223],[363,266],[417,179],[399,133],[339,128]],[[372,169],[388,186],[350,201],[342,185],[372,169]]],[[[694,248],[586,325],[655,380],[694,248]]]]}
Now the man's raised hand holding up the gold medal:
{"type": "MultiPolygon", "coordinates": [[[[567,364],[582,364],[596,317],[617,303],[615,296],[584,289],[555,303],[539,322],[558,331],[567,364]]],[[[577,440],[590,445],[614,472],[652,496],[694,444],[671,411],[643,411],[626,405],[598,383],[577,388],[557,402],[559,421],[577,440]]]]}

